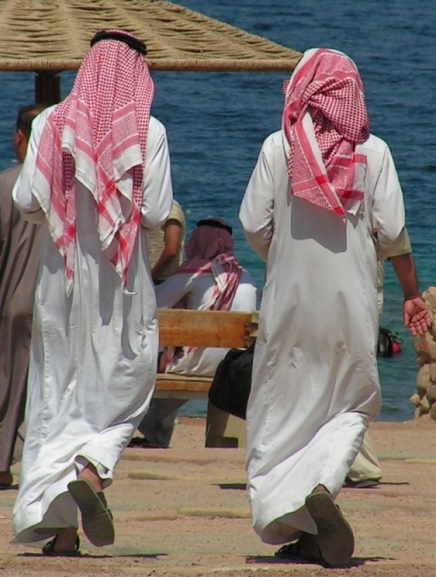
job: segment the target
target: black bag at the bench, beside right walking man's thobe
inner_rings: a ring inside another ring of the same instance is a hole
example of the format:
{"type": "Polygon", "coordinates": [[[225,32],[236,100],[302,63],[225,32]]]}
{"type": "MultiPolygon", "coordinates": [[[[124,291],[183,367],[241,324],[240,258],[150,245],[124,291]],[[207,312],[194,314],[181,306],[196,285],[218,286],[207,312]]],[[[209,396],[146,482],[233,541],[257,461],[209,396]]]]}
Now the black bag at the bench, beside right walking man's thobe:
{"type": "Polygon", "coordinates": [[[230,348],[217,366],[209,389],[212,405],[244,419],[251,390],[255,342],[248,348],[230,348]]]}

